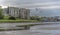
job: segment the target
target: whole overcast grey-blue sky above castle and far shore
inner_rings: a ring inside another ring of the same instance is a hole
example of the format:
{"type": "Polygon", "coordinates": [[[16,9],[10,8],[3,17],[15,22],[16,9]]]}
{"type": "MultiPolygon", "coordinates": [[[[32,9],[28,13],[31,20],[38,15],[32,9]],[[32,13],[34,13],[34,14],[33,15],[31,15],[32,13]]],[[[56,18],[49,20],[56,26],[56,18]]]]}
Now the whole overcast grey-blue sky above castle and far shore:
{"type": "Polygon", "coordinates": [[[0,5],[3,8],[7,6],[31,8],[31,15],[60,16],[60,0],[0,0],[0,5]],[[40,8],[40,11],[34,8],[40,8]]]}

